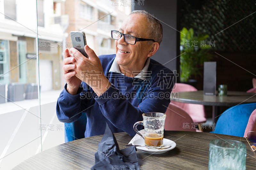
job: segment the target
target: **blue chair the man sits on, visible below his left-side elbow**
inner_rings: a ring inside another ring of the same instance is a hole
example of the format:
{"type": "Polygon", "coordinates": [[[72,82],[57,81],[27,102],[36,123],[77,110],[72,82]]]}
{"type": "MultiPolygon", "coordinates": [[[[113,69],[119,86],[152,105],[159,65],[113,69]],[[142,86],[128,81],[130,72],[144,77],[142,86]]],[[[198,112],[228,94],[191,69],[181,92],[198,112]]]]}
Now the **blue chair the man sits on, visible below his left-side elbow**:
{"type": "Polygon", "coordinates": [[[87,117],[84,112],[82,112],[82,116],[79,117],[77,121],[72,123],[64,123],[65,143],[84,138],[86,123],[87,117]]]}

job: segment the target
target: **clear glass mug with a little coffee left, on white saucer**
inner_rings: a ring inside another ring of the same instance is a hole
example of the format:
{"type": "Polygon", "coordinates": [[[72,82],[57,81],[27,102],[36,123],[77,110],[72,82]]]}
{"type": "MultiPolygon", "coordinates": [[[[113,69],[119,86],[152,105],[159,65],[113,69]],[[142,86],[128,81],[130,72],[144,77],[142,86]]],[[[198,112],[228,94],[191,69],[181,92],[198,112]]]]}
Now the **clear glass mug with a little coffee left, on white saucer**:
{"type": "Polygon", "coordinates": [[[166,115],[164,113],[150,112],[142,114],[143,121],[136,122],[133,125],[133,129],[138,133],[145,141],[145,145],[159,146],[164,145],[164,121],[166,115]],[[144,126],[144,134],[140,133],[137,129],[137,125],[144,126]]]}

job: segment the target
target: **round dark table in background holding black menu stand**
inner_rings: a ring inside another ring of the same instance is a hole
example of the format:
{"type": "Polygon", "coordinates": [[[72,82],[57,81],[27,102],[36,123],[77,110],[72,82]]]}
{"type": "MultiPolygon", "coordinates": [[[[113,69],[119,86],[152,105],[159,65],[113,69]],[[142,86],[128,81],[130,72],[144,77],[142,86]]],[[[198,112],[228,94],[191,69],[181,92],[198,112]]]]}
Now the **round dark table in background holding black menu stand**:
{"type": "Polygon", "coordinates": [[[227,96],[204,95],[203,90],[178,92],[178,98],[171,97],[171,101],[181,103],[203,104],[212,107],[212,122],[216,123],[220,115],[220,106],[235,106],[245,103],[256,103],[256,94],[241,91],[228,91],[227,96]]]}

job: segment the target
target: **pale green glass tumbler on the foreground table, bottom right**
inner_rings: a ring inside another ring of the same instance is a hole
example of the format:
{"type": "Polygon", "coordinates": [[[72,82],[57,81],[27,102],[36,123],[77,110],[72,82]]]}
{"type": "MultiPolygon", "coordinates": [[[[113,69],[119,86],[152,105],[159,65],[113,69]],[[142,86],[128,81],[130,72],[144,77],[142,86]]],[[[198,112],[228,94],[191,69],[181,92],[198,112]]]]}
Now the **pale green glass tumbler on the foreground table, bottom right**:
{"type": "Polygon", "coordinates": [[[245,170],[246,147],[237,140],[214,139],[209,148],[209,170],[245,170]]]}

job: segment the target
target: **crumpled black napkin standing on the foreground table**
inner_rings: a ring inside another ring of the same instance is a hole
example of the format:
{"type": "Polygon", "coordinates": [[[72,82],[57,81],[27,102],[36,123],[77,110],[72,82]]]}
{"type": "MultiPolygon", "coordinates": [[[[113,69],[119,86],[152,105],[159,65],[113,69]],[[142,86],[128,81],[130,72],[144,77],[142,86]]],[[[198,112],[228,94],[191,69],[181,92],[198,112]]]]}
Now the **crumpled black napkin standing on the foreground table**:
{"type": "Polygon", "coordinates": [[[135,146],[119,150],[113,132],[106,124],[105,133],[95,152],[95,165],[92,170],[140,170],[135,146]]]}

